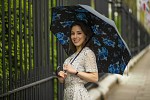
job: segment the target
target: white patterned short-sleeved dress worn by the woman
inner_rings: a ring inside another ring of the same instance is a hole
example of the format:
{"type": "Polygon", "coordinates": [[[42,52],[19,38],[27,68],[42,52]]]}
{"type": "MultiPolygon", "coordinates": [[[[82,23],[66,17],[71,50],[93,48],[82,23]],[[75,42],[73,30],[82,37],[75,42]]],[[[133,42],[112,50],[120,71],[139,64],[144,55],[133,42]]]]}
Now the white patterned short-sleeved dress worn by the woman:
{"type": "MultiPolygon", "coordinates": [[[[64,64],[68,64],[75,56],[76,54],[74,53],[68,57],[64,64]]],[[[79,72],[98,72],[95,54],[88,47],[81,51],[72,66],[79,72]]],[[[77,75],[67,73],[64,100],[91,100],[87,89],[84,87],[86,83],[85,80],[82,80],[77,75]]]]}

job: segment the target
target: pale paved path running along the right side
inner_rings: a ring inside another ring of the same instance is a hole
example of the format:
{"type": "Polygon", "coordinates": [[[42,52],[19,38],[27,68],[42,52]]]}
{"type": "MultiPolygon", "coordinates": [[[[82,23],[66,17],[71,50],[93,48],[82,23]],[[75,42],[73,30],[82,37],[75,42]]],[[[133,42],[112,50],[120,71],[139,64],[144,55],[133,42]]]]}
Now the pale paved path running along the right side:
{"type": "Polygon", "coordinates": [[[150,100],[150,50],[108,92],[106,100],[150,100]]]}

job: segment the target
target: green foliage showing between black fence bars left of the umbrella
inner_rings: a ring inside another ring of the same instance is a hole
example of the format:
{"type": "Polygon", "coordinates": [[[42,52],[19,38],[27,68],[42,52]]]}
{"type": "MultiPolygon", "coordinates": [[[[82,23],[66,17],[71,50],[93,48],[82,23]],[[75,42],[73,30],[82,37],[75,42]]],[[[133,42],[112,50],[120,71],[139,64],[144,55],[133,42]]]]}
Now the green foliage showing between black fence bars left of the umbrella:
{"type": "MultiPolygon", "coordinates": [[[[29,2],[29,0],[26,0],[25,3],[24,2],[25,2],[24,0],[10,0],[10,5],[8,5],[8,1],[4,0],[4,14],[3,14],[4,22],[3,23],[2,23],[2,17],[0,17],[0,78],[4,78],[4,77],[9,78],[10,71],[12,71],[11,74],[12,80],[14,81],[19,80],[21,73],[25,74],[28,73],[29,71],[30,56],[31,56],[31,67],[32,69],[34,69],[33,17],[36,16],[33,16],[32,14],[33,13],[32,2],[31,1],[29,2]],[[10,14],[8,11],[9,10],[8,7],[10,7],[10,14]],[[30,23],[29,23],[29,18],[30,18],[30,23]],[[4,25],[4,28],[2,28],[3,27],[2,25],[4,25]],[[29,30],[29,26],[30,26],[30,30],[29,30]],[[2,39],[2,31],[4,31],[3,39],[2,39]],[[31,42],[29,42],[30,39],[31,42]],[[5,42],[4,45],[2,45],[2,40],[3,42],[5,42]],[[5,48],[3,50],[5,52],[4,55],[2,54],[2,46],[5,48]],[[31,55],[29,55],[30,54],[29,46],[31,46],[31,51],[30,51],[31,55]],[[5,62],[2,62],[2,58],[4,58],[5,62]]],[[[49,1],[50,11],[51,11],[51,5],[56,6],[56,0],[53,0],[53,2],[49,1]]],[[[0,9],[2,9],[2,0],[0,1],[0,9]]],[[[2,16],[2,10],[0,10],[0,16],[2,16]]],[[[49,13],[49,19],[51,19],[51,13],[49,13]]],[[[51,44],[53,44],[54,50],[50,48],[50,63],[51,65],[54,64],[54,69],[56,70],[57,40],[51,34],[52,33],[49,33],[50,46],[51,44]]],[[[9,84],[9,81],[7,83],[9,84]]],[[[54,97],[55,100],[57,100],[57,81],[54,81],[54,85],[55,85],[54,97]]],[[[9,85],[6,85],[6,87],[8,88],[9,85]]]]}

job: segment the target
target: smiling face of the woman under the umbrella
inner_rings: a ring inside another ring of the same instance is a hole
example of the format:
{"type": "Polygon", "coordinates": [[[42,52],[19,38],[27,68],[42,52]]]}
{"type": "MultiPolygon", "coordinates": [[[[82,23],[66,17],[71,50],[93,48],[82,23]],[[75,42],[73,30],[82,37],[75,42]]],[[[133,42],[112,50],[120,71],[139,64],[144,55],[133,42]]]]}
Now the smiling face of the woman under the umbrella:
{"type": "Polygon", "coordinates": [[[81,27],[78,25],[73,26],[71,29],[71,40],[77,49],[82,48],[82,44],[84,43],[85,39],[86,35],[82,31],[81,27]]]}

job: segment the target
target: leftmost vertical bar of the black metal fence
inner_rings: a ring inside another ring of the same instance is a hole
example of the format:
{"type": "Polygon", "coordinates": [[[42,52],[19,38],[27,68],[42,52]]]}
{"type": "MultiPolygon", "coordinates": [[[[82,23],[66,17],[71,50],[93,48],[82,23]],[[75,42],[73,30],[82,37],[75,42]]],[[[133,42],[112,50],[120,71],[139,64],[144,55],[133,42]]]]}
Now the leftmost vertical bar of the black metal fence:
{"type": "MultiPolygon", "coordinates": [[[[2,0],[2,73],[3,73],[3,93],[6,92],[6,66],[5,66],[5,5],[2,0]]],[[[6,98],[4,98],[6,99],[6,98]]]]}

